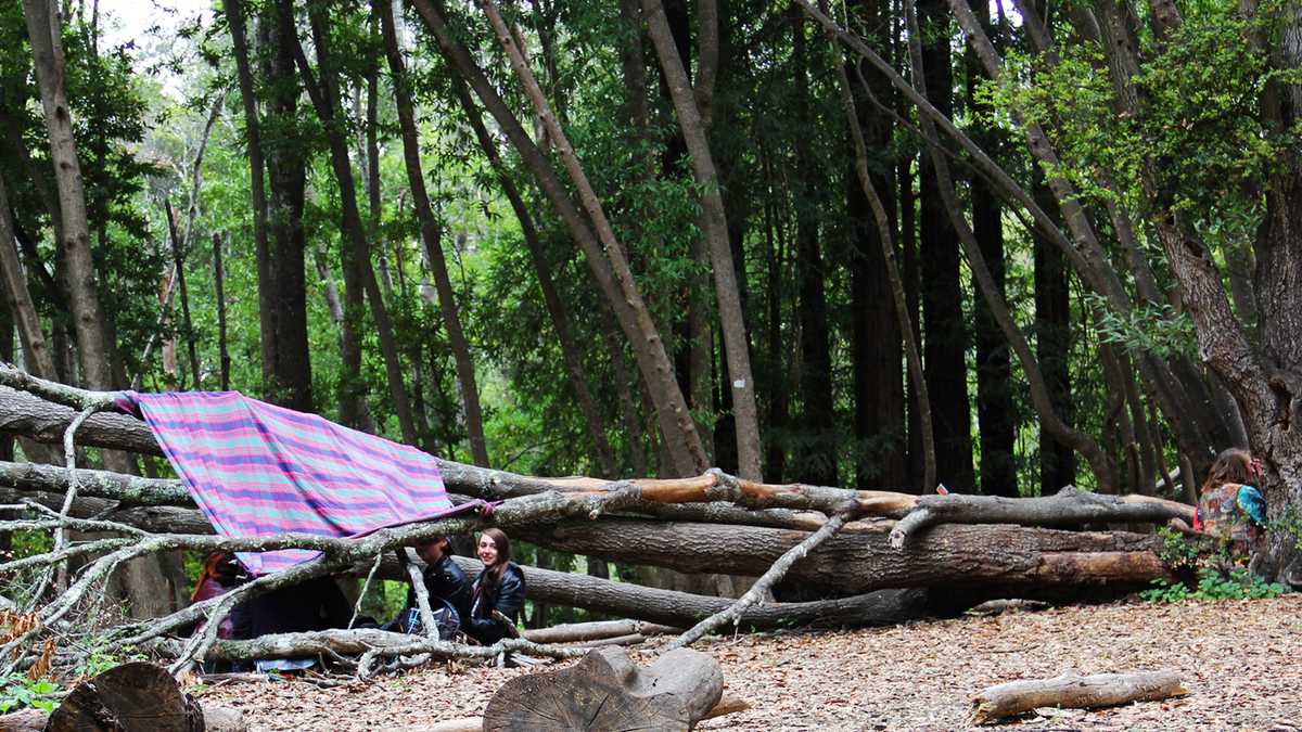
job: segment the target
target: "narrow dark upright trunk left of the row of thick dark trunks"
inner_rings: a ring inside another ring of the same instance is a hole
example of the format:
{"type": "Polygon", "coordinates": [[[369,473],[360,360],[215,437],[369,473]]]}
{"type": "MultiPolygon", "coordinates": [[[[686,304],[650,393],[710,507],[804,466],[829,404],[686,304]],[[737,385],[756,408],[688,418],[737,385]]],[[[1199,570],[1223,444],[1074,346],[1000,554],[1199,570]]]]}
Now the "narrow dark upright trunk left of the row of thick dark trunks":
{"type": "Polygon", "coordinates": [[[809,148],[816,120],[810,115],[809,52],[805,17],[790,8],[792,63],[797,90],[796,150],[796,292],[801,322],[801,426],[803,449],[797,460],[803,482],[835,486],[837,481],[836,412],[832,402],[832,354],[828,344],[827,297],[823,289],[823,251],[819,242],[818,210],[822,202],[822,173],[809,148]]]}

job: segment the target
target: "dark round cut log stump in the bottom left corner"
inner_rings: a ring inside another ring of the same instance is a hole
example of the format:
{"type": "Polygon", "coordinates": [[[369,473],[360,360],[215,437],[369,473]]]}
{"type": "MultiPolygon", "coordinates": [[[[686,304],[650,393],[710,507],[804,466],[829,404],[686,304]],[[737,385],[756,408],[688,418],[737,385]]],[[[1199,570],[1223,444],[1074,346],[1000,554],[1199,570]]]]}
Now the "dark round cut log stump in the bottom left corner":
{"type": "Polygon", "coordinates": [[[46,732],[203,732],[203,710],[167,669],[124,663],[79,684],[46,732]]]}

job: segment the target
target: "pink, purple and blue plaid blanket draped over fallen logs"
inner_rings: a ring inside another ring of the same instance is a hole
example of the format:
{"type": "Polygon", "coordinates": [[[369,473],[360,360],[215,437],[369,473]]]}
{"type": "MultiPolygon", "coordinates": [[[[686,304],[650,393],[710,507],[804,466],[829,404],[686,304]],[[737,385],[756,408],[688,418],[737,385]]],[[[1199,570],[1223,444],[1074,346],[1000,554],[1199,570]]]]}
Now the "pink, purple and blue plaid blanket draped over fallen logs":
{"type": "MultiPolygon", "coordinates": [[[[355,537],[440,518],[453,507],[434,456],[238,392],[125,392],[214,529],[224,537],[355,537]]],[[[316,556],[241,554],[254,574],[316,556]]]]}

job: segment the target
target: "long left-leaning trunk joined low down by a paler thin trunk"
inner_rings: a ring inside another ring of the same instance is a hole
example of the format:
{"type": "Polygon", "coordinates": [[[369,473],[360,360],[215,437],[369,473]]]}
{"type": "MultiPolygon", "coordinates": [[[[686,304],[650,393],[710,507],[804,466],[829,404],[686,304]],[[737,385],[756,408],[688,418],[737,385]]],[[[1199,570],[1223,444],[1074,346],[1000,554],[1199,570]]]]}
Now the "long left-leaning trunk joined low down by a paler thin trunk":
{"type": "MultiPolygon", "coordinates": [[[[516,146],[523,158],[525,164],[536,176],[539,185],[556,207],[561,219],[565,220],[570,233],[583,249],[585,259],[598,285],[605,296],[607,302],[615,310],[621,330],[633,345],[638,370],[652,396],[660,429],[665,439],[672,444],[673,470],[685,474],[704,469],[706,456],[700,445],[700,439],[697,435],[695,425],[691,422],[691,414],[687,412],[682,391],[673,380],[673,369],[664,349],[664,341],[656,332],[651,315],[633,279],[633,274],[624,258],[624,253],[615,240],[615,234],[600,207],[600,202],[592,191],[591,185],[589,185],[586,176],[583,176],[582,169],[578,167],[578,160],[573,150],[569,148],[568,141],[564,139],[560,129],[552,125],[553,129],[551,132],[557,135],[561,143],[561,158],[565,162],[570,178],[579,189],[587,216],[581,215],[578,208],[574,207],[565,186],[551,169],[538,147],[529,139],[519,121],[510,113],[492,85],[483,76],[483,72],[474,63],[466,47],[453,38],[437,4],[431,0],[411,1],[437,38],[444,57],[466,78],[480,102],[483,102],[484,107],[506,133],[512,145],[516,146]],[[596,232],[590,228],[589,221],[591,221],[596,232]]],[[[546,109],[546,102],[540,99],[540,95],[535,103],[538,102],[546,109]]],[[[551,120],[551,115],[544,113],[543,119],[551,120]]]]}

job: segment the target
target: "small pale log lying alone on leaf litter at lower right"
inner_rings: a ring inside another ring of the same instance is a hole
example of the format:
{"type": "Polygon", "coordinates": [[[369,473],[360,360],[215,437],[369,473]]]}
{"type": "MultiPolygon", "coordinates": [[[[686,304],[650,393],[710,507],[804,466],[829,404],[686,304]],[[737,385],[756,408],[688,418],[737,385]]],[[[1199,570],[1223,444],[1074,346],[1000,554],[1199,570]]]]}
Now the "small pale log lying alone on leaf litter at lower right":
{"type": "Polygon", "coordinates": [[[1094,709],[1152,702],[1189,694],[1174,671],[1141,673],[1064,673],[1053,679],[1009,681],[973,697],[971,724],[992,724],[1036,707],[1094,709]]]}

